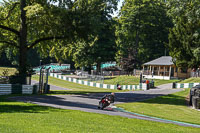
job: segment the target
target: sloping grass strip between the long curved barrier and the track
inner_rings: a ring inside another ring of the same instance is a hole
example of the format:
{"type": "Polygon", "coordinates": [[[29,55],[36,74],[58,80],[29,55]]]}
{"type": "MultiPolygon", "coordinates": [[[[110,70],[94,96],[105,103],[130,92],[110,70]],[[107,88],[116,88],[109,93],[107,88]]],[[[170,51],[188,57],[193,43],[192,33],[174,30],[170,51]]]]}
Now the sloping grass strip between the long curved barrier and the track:
{"type": "MultiPolygon", "coordinates": [[[[33,80],[39,80],[39,77],[34,75],[32,77],[33,80]]],[[[68,88],[71,90],[65,91],[51,91],[51,94],[85,94],[85,93],[102,93],[102,92],[119,92],[119,90],[112,90],[112,89],[103,89],[97,87],[91,87],[87,85],[81,85],[73,82],[69,82],[66,80],[57,79],[54,77],[49,76],[49,84],[68,88]]]]}

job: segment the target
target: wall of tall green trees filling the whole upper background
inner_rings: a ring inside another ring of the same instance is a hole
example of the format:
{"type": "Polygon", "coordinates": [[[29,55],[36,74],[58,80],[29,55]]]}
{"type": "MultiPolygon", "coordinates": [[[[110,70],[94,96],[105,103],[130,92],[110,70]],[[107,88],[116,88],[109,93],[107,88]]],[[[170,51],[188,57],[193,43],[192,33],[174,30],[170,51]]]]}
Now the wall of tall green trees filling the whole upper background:
{"type": "Polygon", "coordinates": [[[169,50],[178,67],[199,67],[199,0],[124,0],[113,18],[118,1],[3,0],[0,65],[26,75],[41,57],[98,71],[116,60],[132,72],[169,50]]]}

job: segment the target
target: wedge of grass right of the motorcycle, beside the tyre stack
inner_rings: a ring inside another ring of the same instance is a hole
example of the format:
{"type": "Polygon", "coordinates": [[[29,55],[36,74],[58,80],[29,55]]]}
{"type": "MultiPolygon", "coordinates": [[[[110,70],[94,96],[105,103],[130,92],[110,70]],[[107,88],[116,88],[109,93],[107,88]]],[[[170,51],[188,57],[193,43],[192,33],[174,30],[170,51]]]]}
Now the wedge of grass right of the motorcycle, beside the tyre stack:
{"type": "Polygon", "coordinates": [[[188,94],[189,89],[186,89],[168,96],[117,106],[135,113],[200,125],[200,111],[186,105],[185,99],[188,94]]]}

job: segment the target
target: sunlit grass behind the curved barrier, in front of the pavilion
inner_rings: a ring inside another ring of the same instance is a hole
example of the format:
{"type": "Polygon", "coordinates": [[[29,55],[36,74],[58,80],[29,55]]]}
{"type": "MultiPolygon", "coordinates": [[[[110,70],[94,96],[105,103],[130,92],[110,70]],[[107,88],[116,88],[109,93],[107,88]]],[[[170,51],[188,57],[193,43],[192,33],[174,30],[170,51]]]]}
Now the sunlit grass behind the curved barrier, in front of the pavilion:
{"type": "MultiPolygon", "coordinates": [[[[150,79],[151,81],[151,79],[150,79]]],[[[154,79],[154,84],[155,86],[162,85],[162,84],[167,84],[167,83],[172,83],[172,82],[177,82],[179,80],[159,80],[159,79],[154,79]]],[[[139,77],[135,76],[116,76],[113,78],[108,78],[104,80],[105,84],[120,84],[120,85],[138,85],[140,82],[139,77]]]]}

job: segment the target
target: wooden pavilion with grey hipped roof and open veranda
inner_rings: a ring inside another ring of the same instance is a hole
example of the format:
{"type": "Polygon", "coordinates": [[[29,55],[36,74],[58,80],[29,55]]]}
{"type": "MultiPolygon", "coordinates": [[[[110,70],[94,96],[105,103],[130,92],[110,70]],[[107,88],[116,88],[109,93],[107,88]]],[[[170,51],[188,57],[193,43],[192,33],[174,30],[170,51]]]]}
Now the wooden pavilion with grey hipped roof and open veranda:
{"type": "Polygon", "coordinates": [[[150,79],[189,78],[191,69],[177,68],[171,56],[162,56],[143,64],[143,76],[150,79]]]}

